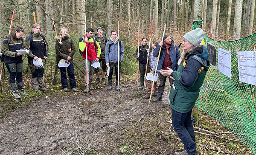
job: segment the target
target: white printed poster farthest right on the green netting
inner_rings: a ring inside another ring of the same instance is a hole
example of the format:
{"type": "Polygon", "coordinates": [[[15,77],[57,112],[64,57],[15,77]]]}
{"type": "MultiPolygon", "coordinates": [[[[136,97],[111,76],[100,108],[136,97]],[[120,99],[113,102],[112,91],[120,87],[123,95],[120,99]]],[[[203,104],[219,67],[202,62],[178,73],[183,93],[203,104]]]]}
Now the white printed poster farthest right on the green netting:
{"type": "Polygon", "coordinates": [[[238,51],[239,81],[256,85],[256,54],[254,51],[238,51]]]}

